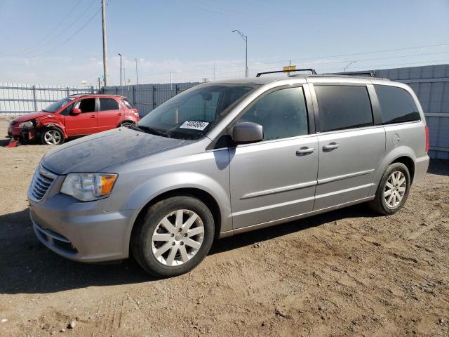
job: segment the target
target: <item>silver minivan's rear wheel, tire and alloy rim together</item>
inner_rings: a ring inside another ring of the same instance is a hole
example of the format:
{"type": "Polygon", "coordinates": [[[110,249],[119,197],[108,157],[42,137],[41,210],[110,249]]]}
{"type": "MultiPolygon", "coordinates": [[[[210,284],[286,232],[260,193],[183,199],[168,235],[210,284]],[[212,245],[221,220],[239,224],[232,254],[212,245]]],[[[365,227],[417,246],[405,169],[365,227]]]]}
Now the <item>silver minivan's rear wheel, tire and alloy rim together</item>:
{"type": "Polygon", "coordinates": [[[410,185],[410,173],[407,166],[402,163],[393,163],[387,167],[377,187],[375,199],[368,205],[374,211],[384,215],[394,214],[406,203],[410,185]]]}

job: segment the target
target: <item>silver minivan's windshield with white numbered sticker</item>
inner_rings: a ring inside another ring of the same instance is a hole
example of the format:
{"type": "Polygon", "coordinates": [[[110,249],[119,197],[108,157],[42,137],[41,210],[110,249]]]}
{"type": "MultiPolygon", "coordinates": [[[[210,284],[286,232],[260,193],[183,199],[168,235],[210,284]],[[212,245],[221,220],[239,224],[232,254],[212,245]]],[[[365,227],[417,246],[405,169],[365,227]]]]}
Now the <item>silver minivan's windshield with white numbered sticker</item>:
{"type": "Polygon", "coordinates": [[[159,105],[137,127],[169,138],[199,139],[257,87],[255,84],[203,84],[159,105]]]}

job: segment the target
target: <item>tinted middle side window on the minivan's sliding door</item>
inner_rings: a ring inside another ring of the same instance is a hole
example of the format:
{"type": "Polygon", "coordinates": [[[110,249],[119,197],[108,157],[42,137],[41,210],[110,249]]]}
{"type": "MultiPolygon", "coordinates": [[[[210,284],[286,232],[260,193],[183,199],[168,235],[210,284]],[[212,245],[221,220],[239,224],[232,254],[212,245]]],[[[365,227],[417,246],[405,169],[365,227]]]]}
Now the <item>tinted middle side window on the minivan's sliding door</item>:
{"type": "Polygon", "coordinates": [[[315,86],[315,93],[321,131],[373,125],[373,112],[365,86],[315,86]]]}

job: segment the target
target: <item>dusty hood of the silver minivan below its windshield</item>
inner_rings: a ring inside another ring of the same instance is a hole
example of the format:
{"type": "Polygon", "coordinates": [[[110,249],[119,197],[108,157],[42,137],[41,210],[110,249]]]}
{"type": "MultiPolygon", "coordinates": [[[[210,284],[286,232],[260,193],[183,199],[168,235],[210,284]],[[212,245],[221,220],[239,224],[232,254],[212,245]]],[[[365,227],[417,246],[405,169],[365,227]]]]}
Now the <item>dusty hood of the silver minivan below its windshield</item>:
{"type": "Polygon", "coordinates": [[[59,146],[43,157],[42,165],[63,175],[71,172],[97,172],[122,161],[168,150],[184,142],[185,140],[155,136],[129,128],[115,128],[59,146]]]}

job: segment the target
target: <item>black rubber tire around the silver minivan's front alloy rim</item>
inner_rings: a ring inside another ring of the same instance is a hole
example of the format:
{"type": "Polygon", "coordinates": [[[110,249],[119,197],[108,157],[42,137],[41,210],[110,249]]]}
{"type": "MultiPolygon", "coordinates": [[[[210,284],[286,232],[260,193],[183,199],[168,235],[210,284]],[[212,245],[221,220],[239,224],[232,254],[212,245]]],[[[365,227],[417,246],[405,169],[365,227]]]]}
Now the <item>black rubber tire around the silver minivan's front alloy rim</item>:
{"type": "Polygon", "coordinates": [[[135,232],[135,235],[138,237],[135,237],[133,240],[133,244],[137,245],[133,247],[135,255],[138,255],[135,258],[147,272],[156,277],[172,277],[189,272],[206,257],[214,239],[215,226],[212,213],[199,199],[189,196],[170,197],[159,201],[150,207],[147,216],[139,225],[139,230],[135,232]],[[204,226],[203,243],[195,256],[186,263],[177,266],[166,266],[154,257],[152,252],[152,234],[163,217],[178,209],[194,211],[201,218],[204,226]]]}

